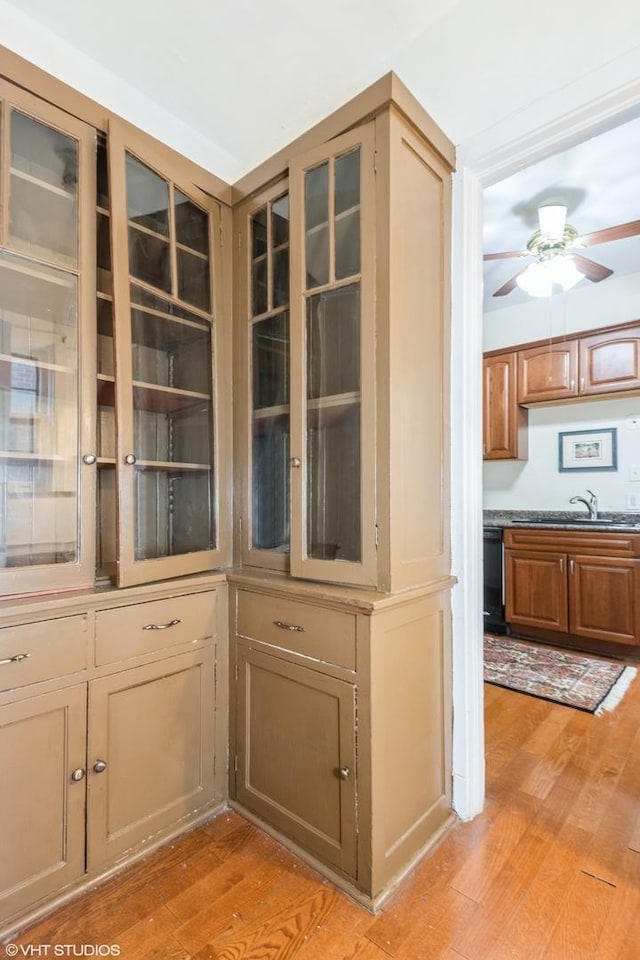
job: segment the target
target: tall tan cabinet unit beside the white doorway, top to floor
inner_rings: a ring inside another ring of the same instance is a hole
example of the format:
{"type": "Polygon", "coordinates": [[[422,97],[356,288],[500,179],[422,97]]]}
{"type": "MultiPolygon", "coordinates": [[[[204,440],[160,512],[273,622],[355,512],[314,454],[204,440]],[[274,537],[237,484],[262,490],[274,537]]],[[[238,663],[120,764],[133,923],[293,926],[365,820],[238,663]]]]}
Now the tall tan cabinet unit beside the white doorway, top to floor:
{"type": "Polygon", "coordinates": [[[369,904],[451,818],[452,160],[389,76],[234,211],[230,792],[369,904]]]}

